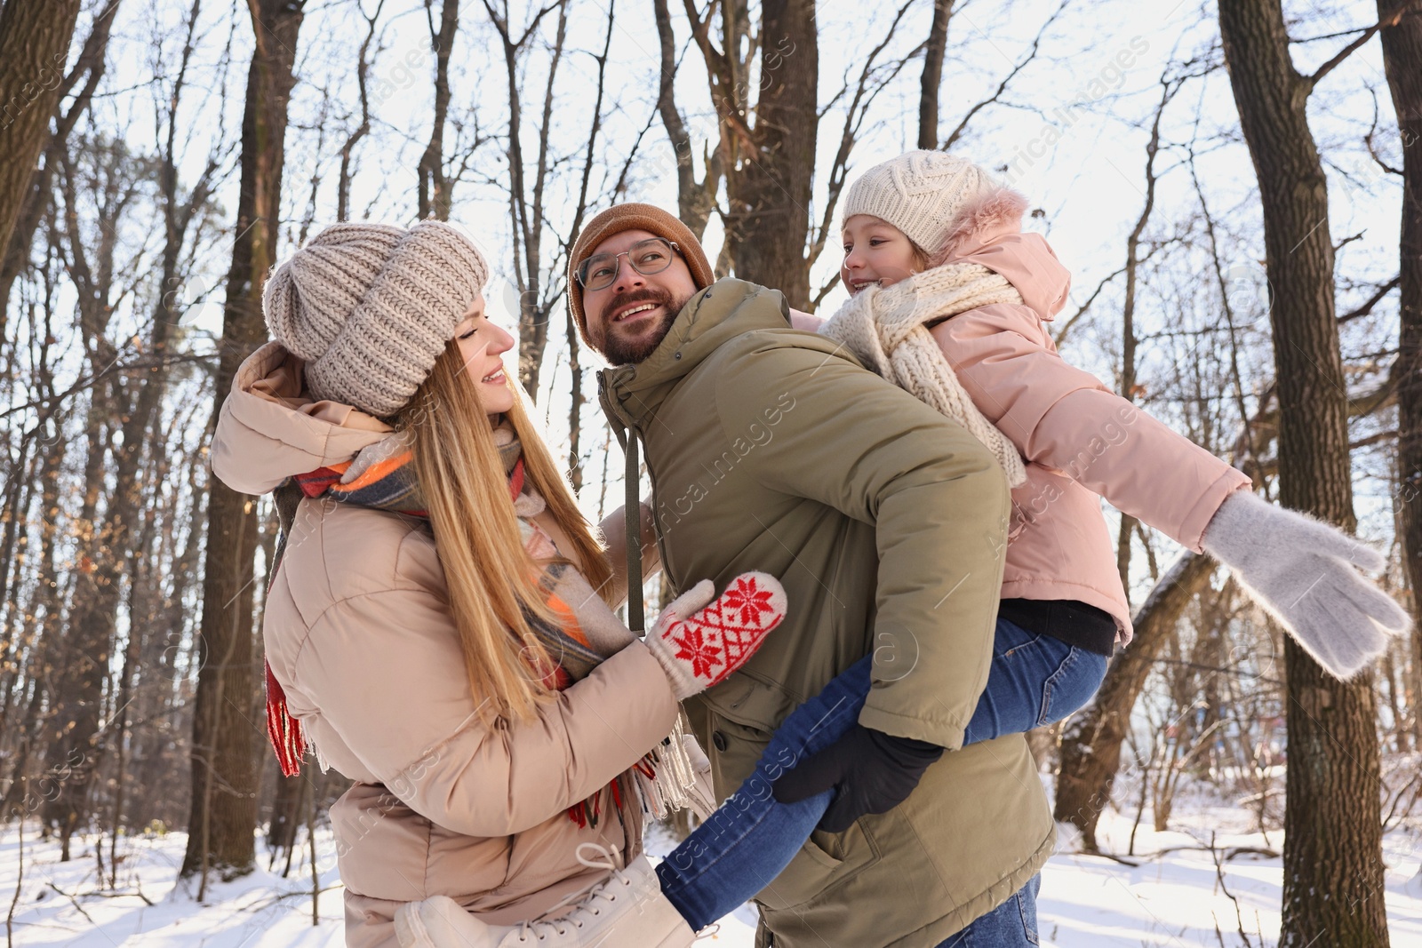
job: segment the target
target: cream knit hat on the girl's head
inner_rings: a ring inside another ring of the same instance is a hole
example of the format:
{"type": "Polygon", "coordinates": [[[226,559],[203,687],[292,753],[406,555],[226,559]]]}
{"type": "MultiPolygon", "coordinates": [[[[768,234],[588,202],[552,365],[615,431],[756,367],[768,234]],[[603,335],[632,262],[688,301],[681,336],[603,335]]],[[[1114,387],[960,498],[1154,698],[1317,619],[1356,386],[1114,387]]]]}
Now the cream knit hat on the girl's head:
{"type": "Polygon", "coordinates": [[[983,168],[947,152],[904,152],[849,186],[843,219],[872,215],[903,230],[930,256],[960,212],[1001,185],[983,168]]]}

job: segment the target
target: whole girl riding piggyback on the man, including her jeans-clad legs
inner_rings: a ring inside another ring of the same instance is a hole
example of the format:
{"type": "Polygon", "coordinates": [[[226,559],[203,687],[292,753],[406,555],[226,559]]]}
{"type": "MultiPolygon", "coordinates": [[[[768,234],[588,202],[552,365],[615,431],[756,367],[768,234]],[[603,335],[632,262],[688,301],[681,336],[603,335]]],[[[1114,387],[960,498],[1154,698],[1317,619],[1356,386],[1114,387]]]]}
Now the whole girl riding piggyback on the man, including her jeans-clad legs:
{"type": "MultiPolygon", "coordinates": [[[[1355,672],[1408,627],[1354,570],[1378,569],[1381,557],[1258,500],[1244,475],[1066,365],[1042,324],[1065,304],[1069,276],[1041,236],[1021,233],[1024,208],[941,152],[879,165],[846,195],[852,298],[828,324],[792,316],[963,424],[1012,485],[994,659],[964,743],[1065,718],[1099,686],[1113,645],[1130,641],[1099,496],[1216,556],[1330,671],[1355,672]]],[[[816,826],[839,831],[865,812],[863,787],[842,780],[836,742],[867,689],[863,659],[796,709],[755,773],[658,864],[663,893],[691,928],[761,891],[816,826]]],[[[903,795],[929,762],[904,767],[903,795]]],[[[1027,908],[1010,900],[974,921],[973,935],[1027,944],[1015,917],[1027,908]]],[[[448,918],[462,939],[438,944],[519,944],[516,930],[448,918]]],[[[565,937],[543,944],[592,944],[572,927],[565,937]]]]}

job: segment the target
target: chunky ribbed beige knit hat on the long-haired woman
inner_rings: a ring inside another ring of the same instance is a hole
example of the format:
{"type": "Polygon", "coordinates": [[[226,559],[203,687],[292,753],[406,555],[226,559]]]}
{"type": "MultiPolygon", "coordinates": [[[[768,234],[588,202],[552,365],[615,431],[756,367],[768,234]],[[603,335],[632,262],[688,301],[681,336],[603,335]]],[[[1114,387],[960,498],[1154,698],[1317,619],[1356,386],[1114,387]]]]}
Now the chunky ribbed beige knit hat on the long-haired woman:
{"type": "Polygon", "coordinates": [[[306,362],[307,394],[377,418],[435,367],[489,267],[456,227],[338,223],[280,263],[262,294],[272,338],[306,362]]]}

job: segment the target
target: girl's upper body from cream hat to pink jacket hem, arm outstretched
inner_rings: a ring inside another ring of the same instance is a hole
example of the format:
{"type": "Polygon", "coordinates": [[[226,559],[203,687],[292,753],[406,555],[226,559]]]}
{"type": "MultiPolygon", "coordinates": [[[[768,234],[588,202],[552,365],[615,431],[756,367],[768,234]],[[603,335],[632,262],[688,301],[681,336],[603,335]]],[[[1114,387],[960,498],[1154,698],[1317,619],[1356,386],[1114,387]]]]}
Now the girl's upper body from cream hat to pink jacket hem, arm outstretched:
{"type": "MultiPolygon", "coordinates": [[[[1243,490],[1243,473],[1062,361],[1045,323],[1065,306],[1071,276],[1041,235],[1022,233],[1025,208],[944,152],[877,165],[845,203],[840,277],[852,298],[818,327],[1003,463],[1012,522],[1001,614],[1058,652],[1111,654],[1112,638],[1130,641],[1105,497],[1231,567],[1324,668],[1355,674],[1409,624],[1352,569],[1379,570],[1384,559],[1243,490]]],[[[1054,686],[1044,682],[1044,708],[1054,686]]]]}

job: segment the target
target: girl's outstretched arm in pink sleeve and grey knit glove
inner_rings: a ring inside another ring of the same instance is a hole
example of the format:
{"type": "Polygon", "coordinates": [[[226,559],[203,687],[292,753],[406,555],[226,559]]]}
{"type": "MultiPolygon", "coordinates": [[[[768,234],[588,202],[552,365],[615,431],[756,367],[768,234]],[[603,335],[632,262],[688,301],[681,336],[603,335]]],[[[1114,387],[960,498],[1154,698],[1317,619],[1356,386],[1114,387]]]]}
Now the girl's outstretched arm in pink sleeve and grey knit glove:
{"type": "MultiPolygon", "coordinates": [[[[1348,678],[1409,627],[1358,573],[1382,557],[1340,530],[1254,497],[1246,475],[1057,354],[1035,313],[988,306],[933,330],[978,409],[1028,460],[1234,570],[1331,674],[1348,678]]],[[[1049,516],[1051,497],[1035,499],[1049,516]]]]}

